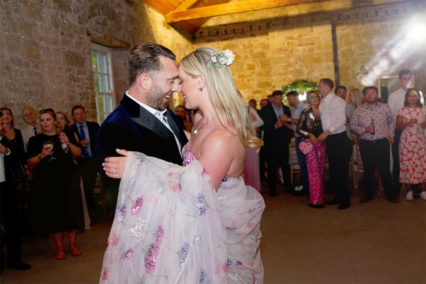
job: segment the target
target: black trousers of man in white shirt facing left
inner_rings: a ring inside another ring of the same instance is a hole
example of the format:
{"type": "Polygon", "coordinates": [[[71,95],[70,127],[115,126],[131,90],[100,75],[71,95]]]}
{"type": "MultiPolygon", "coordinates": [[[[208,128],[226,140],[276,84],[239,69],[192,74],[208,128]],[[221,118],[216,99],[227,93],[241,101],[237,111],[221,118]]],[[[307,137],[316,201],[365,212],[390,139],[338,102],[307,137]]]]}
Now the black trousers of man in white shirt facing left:
{"type": "Polygon", "coordinates": [[[327,137],[327,159],[329,162],[332,190],[340,204],[350,204],[349,198],[349,162],[354,143],[349,140],[346,131],[327,137]]]}

